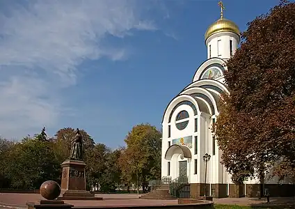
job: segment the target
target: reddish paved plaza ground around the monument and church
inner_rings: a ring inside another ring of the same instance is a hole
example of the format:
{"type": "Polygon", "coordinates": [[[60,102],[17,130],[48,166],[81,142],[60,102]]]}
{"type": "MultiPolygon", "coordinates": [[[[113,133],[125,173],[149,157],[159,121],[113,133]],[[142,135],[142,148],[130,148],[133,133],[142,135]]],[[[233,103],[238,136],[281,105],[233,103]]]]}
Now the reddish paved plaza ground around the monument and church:
{"type": "MultiPolygon", "coordinates": [[[[97,194],[102,196],[102,201],[65,201],[74,206],[161,206],[175,205],[177,200],[139,199],[137,194],[97,194]]],[[[0,208],[27,208],[26,202],[38,202],[42,199],[40,194],[17,194],[0,193],[0,208]]],[[[289,205],[294,206],[295,198],[271,198],[267,204],[266,199],[257,198],[223,198],[214,199],[216,204],[239,205],[239,206],[267,206],[267,205],[289,205]]]]}

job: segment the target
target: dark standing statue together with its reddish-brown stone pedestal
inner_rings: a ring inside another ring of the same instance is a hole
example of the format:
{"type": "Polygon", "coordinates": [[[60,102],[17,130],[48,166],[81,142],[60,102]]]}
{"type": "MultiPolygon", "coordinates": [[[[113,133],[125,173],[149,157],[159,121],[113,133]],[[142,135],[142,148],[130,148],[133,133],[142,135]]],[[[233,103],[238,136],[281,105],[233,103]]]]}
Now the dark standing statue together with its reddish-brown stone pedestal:
{"type": "Polygon", "coordinates": [[[102,200],[86,191],[85,167],[83,162],[83,137],[77,128],[72,141],[70,158],[61,164],[63,169],[61,176],[61,194],[59,200],[102,200]]]}

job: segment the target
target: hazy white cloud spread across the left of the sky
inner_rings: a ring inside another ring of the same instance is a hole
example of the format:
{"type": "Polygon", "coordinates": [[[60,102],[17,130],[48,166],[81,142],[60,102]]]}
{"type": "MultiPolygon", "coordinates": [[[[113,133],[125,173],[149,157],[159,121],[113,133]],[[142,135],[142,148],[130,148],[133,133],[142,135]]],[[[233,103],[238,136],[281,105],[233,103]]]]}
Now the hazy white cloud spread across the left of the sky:
{"type": "Polygon", "coordinates": [[[58,91],[77,82],[77,66],[126,49],[104,42],[131,29],[154,30],[136,1],[39,0],[0,11],[0,135],[20,137],[54,125],[65,111],[58,91]]]}

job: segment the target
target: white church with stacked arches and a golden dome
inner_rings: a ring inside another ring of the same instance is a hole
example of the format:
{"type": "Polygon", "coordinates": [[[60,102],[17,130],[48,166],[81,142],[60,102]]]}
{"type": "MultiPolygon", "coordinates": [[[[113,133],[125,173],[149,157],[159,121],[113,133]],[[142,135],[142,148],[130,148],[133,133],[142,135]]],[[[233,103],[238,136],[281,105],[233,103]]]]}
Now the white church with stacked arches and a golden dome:
{"type": "MultiPolygon", "coordinates": [[[[186,178],[191,197],[260,196],[263,189],[259,180],[248,180],[244,185],[232,183],[221,164],[221,150],[212,133],[220,110],[220,95],[229,93],[223,77],[226,63],[241,38],[239,26],[224,18],[222,2],[218,5],[221,17],[205,32],[207,60],[196,70],[191,84],[168,103],[164,112],[161,176],[170,180],[186,178]]],[[[272,196],[294,193],[291,192],[294,185],[279,185],[276,179],[264,182],[264,187],[272,196]]]]}

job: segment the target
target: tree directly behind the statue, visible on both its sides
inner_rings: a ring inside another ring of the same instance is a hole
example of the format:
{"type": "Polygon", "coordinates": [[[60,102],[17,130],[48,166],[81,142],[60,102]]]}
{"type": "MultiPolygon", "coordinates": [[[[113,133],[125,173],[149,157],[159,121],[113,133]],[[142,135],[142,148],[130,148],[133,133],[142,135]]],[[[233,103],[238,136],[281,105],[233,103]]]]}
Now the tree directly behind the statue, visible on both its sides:
{"type": "MultiPolygon", "coordinates": [[[[80,130],[80,133],[83,137],[84,150],[87,153],[89,148],[94,147],[95,142],[85,130],[80,130]]],[[[74,136],[75,130],[72,127],[64,127],[56,132],[56,144],[54,150],[59,161],[63,162],[70,157],[72,139],[74,139],[74,136]]]]}

